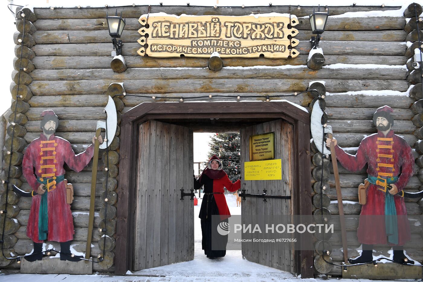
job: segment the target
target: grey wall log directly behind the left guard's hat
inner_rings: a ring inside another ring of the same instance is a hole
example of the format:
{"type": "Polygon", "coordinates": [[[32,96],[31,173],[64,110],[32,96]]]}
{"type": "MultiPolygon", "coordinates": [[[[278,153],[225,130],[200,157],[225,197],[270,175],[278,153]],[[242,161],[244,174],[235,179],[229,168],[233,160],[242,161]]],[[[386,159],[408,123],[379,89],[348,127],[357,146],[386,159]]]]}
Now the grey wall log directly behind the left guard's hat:
{"type": "MultiPolygon", "coordinates": [[[[90,95],[91,97],[91,95],[90,95]]],[[[60,121],[62,120],[102,120],[106,119],[107,115],[104,113],[104,107],[49,107],[49,108],[35,108],[28,105],[28,111],[25,112],[26,116],[30,121],[41,120],[40,116],[42,111],[52,109],[59,116],[60,121]]],[[[13,102],[12,102],[12,109],[13,102]]],[[[19,111],[23,113],[22,111],[19,111]]]]}

